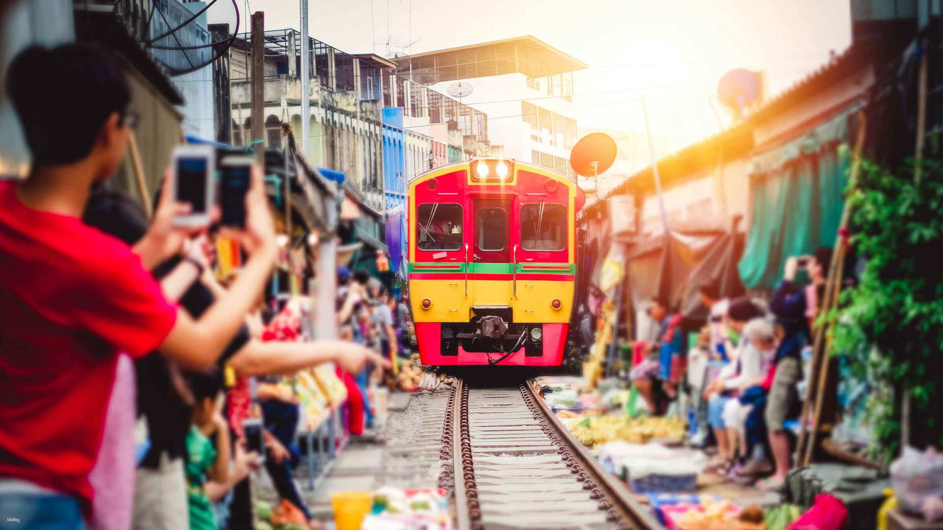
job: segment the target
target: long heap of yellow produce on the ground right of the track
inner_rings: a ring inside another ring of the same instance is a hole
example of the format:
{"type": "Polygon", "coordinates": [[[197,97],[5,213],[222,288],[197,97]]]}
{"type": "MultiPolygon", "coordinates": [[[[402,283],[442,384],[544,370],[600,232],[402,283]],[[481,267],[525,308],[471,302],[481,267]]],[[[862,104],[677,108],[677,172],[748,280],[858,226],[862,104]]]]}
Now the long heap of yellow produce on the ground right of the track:
{"type": "Polygon", "coordinates": [[[684,439],[686,423],[677,416],[641,417],[587,415],[571,422],[570,432],[583,445],[609,441],[645,443],[651,439],[684,439]]]}

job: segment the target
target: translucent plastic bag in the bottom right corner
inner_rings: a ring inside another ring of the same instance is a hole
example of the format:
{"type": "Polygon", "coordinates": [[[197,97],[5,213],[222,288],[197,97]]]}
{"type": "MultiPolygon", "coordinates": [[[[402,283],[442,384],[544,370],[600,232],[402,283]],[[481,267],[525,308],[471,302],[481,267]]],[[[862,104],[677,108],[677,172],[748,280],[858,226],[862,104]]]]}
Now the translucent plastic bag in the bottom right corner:
{"type": "Polygon", "coordinates": [[[901,509],[922,515],[925,499],[943,496],[943,455],[932,447],[926,451],[904,447],[890,465],[890,480],[901,509]]]}

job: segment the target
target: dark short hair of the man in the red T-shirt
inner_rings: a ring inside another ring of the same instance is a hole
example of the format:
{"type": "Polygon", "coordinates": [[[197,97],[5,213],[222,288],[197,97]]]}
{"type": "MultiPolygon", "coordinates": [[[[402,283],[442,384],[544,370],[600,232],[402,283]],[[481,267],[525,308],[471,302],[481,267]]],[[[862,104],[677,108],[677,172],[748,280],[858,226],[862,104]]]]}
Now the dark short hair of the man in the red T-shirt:
{"type": "Polygon", "coordinates": [[[34,164],[87,157],[112,112],[124,116],[131,90],[117,63],[88,44],[30,46],[10,62],[7,91],[34,164]]]}

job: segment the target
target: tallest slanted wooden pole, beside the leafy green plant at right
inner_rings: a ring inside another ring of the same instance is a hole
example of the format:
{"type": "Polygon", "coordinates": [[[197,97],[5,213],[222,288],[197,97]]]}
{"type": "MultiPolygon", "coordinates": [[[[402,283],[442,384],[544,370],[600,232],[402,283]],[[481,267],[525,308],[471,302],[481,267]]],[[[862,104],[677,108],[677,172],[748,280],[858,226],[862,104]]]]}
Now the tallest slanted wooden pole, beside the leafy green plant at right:
{"type": "MultiPolygon", "coordinates": [[[[858,133],[854,139],[854,151],[852,153],[852,169],[849,176],[849,188],[853,189],[857,181],[858,171],[861,166],[861,150],[865,143],[865,133],[867,122],[864,111],[858,112],[858,133]]],[[[848,226],[851,217],[851,208],[845,203],[841,212],[841,222],[838,224],[838,234],[835,238],[835,253],[832,256],[832,263],[829,266],[828,279],[826,280],[825,296],[822,300],[822,311],[829,311],[838,304],[838,293],[841,290],[841,276],[844,273],[845,261],[845,241],[842,233],[848,226]]],[[[829,359],[828,359],[828,330],[827,324],[819,325],[815,330],[813,341],[812,367],[809,371],[809,386],[802,400],[802,422],[800,423],[799,441],[796,444],[797,464],[806,466],[812,457],[812,451],[816,444],[816,437],[819,431],[821,421],[820,414],[822,408],[822,396],[824,387],[828,381],[829,359]],[[813,379],[815,378],[815,379],[813,379]],[[816,381],[816,386],[811,385],[816,381]],[[812,426],[808,426],[808,421],[812,416],[812,426]]]]}

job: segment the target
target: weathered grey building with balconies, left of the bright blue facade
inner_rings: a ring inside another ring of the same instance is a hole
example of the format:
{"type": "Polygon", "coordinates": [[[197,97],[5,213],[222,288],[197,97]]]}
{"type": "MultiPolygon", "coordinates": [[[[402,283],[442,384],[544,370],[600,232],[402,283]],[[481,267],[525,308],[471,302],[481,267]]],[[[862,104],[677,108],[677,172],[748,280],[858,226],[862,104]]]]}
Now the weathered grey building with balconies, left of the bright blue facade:
{"type": "MultiPolygon", "coordinates": [[[[281,125],[289,123],[301,148],[301,33],[265,32],[265,134],[251,138],[250,36],[240,34],[230,49],[232,143],[261,140],[283,147],[281,125]]],[[[381,71],[392,63],[377,56],[353,56],[309,39],[311,50],[308,151],[311,166],[346,175],[373,209],[385,207],[382,166],[381,71]]]]}

